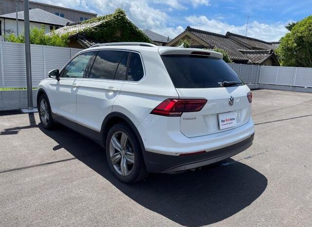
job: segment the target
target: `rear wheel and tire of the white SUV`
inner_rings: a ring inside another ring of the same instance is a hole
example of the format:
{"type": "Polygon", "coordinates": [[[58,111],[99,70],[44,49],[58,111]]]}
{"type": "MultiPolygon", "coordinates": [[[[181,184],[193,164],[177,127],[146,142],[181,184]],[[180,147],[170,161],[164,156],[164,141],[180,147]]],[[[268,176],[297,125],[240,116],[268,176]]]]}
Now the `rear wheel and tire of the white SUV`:
{"type": "Polygon", "coordinates": [[[133,183],[148,175],[137,136],[128,125],[114,125],[107,133],[105,148],[108,165],[119,181],[133,183]]]}

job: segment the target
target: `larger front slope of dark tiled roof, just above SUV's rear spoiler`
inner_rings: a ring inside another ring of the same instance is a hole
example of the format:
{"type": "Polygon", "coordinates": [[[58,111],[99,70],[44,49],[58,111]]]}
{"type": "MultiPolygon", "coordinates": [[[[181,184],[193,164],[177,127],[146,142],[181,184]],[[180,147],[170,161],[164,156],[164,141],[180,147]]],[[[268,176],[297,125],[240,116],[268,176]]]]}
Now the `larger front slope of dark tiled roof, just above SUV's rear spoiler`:
{"type": "Polygon", "coordinates": [[[224,35],[207,32],[191,27],[187,27],[186,31],[191,32],[197,38],[200,38],[205,42],[211,44],[213,48],[218,47],[225,50],[233,60],[248,61],[248,58],[245,55],[237,51],[238,49],[243,49],[243,47],[233,42],[224,35]]]}

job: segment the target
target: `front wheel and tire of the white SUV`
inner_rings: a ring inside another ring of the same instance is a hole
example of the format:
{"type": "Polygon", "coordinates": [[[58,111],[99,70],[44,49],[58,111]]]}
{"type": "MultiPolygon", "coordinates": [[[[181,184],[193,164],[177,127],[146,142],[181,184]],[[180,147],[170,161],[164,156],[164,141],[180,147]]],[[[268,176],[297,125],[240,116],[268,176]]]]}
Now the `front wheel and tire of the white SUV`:
{"type": "Polygon", "coordinates": [[[55,122],[52,118],[49,99],[45,94],[39,97],[38,112],[42,127],[48,130],[52,129],[55,126],[55,122]]]}

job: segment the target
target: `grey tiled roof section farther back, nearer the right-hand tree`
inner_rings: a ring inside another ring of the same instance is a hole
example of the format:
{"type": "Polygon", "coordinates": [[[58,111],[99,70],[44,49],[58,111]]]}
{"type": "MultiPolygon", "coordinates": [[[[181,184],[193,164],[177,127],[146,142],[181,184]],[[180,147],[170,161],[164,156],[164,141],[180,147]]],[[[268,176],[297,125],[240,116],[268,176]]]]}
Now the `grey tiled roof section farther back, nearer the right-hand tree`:
{"type": "MultiPolygon", "coordinates": [[[[272,45],[273,42],[266,42],[260,39],[251,38],[251,37],[245,37],[238,34],[234,34],[231,32],[227,32],[226,36],[239,44],[245,46],[247,49],[253,49],[253,50],[269,50],[269,49],[275,49],[272,45]]],[[[278,43],[278,42],[274,42],[278,43]]]]}

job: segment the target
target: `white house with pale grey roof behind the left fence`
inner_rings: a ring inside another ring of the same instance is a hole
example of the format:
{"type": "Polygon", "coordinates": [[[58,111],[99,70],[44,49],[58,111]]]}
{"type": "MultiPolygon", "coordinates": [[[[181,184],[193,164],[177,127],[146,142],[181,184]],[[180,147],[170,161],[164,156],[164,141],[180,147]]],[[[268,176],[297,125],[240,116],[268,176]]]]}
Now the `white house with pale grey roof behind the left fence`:
{"type": "MultiPolygon", "coordinates": [[[[61,18],[55,14],[49,13],[42,9],[29,10],[29,27],[41,28],[45,26],[45,31],[50,32],[53,28],[65,26],[73,21],[61,18]]],[[[24,11],[18,12],[19,34],[24,30],[24,11]]],[[[16,13],[0,15],[0,40],[3,40],[3,35],[17,35],[16,13]]]]}

